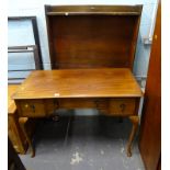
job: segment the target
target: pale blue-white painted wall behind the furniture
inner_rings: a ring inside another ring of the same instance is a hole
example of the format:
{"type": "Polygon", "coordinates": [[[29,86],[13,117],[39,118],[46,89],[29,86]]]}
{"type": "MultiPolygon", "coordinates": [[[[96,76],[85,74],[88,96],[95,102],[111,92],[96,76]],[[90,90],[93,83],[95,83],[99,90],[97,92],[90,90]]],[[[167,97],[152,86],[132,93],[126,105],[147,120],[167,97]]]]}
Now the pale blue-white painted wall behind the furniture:
{"type": "MultiPolygon", "coordinates": [[[[157,0],[9,0],[9,16],[22,16],[22,15],[36,15],[37,16],[37,25],[41,38],[41,47],[43,54],[43,63],[45,69],[50,69],[49,64],[49,54],[48,54],[48,45],[47,45],[47,34],[46,34],[46,23],[45,23],[45,12],[44,4],[144,4],[141,23],[139,30],[139,38],[137,43],[136,58],[134,64],[134,73],[137,76],[146,76],[147,67],[150,54],[150,45],[144,45],[143,38],[148,37],[150,25],[152,23],[152,12],[157,4],[157,0]]],[[[27,44],[31,43],[31,33],[23,32],[25,25],[20,24],[9,24],[9,45],[18,45],[18,44],[27,44]],[[18,30],[21,33],[21,37],[19,38],[19,34],[15,34],[13,30],[18,30]],[[11,33],[12,32],[12,33],[11,33]],[[13,34],[14,33],[14,34],[13,34]]],[[[11,67],[11,63],[9,60],[9,68],[11,67]]],[[[23,65],[26,65],[23,63],[23,65]]],[[[12,66],[13,67],[13,66],[12,66]]],[[[16,66],[18,67],[18,66],[16,66]]],[[[26,66],[25,66],[26,67],[26,66]]]]}

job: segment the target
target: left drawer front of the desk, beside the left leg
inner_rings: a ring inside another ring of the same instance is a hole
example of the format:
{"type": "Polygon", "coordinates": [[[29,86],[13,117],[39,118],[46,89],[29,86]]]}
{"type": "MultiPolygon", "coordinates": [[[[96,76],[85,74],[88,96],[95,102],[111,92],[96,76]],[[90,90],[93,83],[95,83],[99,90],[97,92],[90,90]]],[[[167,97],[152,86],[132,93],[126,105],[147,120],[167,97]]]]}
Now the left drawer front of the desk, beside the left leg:
{"type": "Polygon", "coordinates": [[[20,116],[42,117],[46,115],[43,100],[22,100],[16,102],[20,116]]]}

